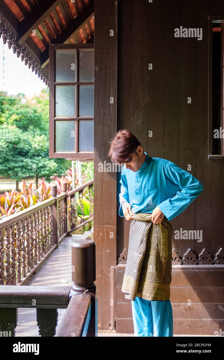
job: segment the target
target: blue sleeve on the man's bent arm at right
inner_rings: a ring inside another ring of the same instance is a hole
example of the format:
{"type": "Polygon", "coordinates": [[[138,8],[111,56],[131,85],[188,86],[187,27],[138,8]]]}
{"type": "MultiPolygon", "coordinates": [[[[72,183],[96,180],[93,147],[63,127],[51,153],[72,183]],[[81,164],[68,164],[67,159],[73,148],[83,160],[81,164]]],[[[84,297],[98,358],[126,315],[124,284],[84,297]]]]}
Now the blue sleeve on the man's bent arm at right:
{"type": "Polygon", "coordinates": [[[193,175],[181,169],[173,162],[166,165],[165,176],[176,185],[179,185],[181,189],[175,196],[158,205],[168,220],[172,220],[201,194],[203,185],[193,175]]]}

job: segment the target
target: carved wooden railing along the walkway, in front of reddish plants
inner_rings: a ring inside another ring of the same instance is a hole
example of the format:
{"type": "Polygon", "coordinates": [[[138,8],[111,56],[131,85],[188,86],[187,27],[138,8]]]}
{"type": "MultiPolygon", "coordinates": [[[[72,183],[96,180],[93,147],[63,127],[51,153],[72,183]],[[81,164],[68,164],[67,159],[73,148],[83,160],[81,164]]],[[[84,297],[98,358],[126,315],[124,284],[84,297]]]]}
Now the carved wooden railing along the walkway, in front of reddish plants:
{"type": "Polygon", "coordinates": [[[57,196],[0,220],[0,285],[23,285],[37,267],[72,231],[93,220],[93,180],[67,192],[62,183],[57,196]],[[88,188],[90,217],[84,220],[83,190],[88,188]],[[77,221],[75,194],[78,192],[82,218],[77,221]],[[70,218],[70,221],[69,221],[70,218]]]}

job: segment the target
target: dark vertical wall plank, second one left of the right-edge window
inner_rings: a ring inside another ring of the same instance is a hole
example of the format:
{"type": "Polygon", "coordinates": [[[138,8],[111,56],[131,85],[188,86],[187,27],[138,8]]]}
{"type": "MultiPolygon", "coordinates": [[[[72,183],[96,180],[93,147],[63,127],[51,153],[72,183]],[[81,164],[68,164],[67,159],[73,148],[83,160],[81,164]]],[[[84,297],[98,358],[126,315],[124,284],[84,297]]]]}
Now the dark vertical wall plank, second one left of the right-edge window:
{"type": "MultiPolygon", "coordinates": [[[[184,0],[181,3],[181,24],[191,18],[191,27],[197,28],[197,3],[184,0]]],[[[175,38],[175,40],[177,40],[175,38]]],[[[195,176],[196,162],[196,82],[197,42],[195,38],[180,38],[180,167],[195,176]],[[189,71],[190,69],[190,71],[189,71]],[[191,103],[188,99],[191,98],[191,103]],[[191,170],[188,167],[191,166],[191,170]]],[[[179,215],[179,229],[195,230],[195,201],[179,215]]],[[[195,240],[179,240],[178,253],[182,256],[189,248],[194,252],[195,240]]]]}

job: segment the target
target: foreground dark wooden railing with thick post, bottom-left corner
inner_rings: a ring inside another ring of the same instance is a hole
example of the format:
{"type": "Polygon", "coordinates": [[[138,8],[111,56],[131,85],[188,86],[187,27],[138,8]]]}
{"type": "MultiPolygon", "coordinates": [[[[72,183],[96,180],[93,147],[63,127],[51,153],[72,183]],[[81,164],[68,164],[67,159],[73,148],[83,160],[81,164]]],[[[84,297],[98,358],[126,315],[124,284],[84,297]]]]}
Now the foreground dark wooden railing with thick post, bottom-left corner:
{"type": "Polygon", "coordinates": [[[72,244],[73,269],[72,288],[0,286],[1,336],[15,336],[20,307],[37,309],[37,326],[42,337],[55,336],[58,309],[63,308],[67,309],[56,336],[97,336],[97,291],[94,283],[96,251],[93,240],[74,240],[72,244]]]}

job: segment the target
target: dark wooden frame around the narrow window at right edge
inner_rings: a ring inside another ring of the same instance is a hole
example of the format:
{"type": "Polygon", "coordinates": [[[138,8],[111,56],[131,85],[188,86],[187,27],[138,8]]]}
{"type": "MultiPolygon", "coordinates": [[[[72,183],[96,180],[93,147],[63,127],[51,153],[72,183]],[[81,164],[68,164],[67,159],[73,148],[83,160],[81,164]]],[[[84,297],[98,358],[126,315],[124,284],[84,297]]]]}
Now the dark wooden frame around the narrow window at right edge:
{"type": "Polygon", "coordinates": [[[224,139],[221,138],[220,154],[212,155],[212,21],[218,20],[221,22],[221,128],[224,129],[224,17],[223,16],[209,16],[209,123],[208,123],[208,145],[209,154],[208,159],[210,160],[224,160],[224,139]]]}

